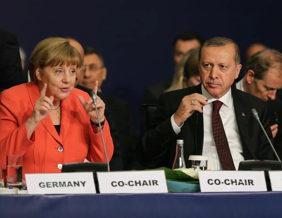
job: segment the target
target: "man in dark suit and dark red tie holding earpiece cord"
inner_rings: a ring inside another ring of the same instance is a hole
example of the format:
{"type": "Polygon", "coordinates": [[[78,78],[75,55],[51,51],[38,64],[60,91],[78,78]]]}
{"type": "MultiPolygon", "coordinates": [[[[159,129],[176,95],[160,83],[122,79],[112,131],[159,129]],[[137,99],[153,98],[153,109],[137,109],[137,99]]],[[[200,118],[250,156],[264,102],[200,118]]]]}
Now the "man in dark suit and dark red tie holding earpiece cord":
{"type": "Polygon", "coordinates": [[[184,140],[184,160],[189,155],[208,156],[212,170],[237,170],[239,162],[273,159],[263,130],[252,116],[255,108],[272,138],[266,102],[230,88],[242,65],[238,45],[226,37],[214,37],[202,45],[199,71],[202,83],[162,94],[151,129],[137,146],[143,165],[171,168],[176,140],[184,140]]]}

